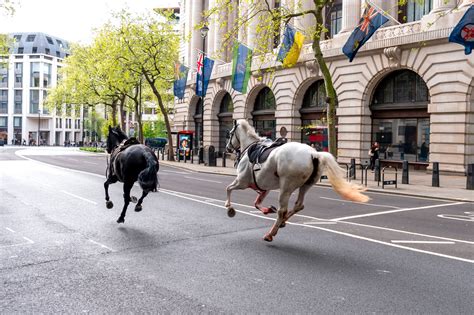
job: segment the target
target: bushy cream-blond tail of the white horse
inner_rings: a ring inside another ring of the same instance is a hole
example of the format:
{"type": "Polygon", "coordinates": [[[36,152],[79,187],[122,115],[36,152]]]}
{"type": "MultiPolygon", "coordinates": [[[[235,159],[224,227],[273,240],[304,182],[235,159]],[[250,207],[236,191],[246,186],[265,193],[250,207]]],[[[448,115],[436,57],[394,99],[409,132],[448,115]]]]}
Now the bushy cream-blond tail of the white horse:
{"type": "Polygon", "coordinates": [[[331,153],[316,152],[312,153],[313,159],[318,159],[321,163],[321,170],[328,176],[334,190],[344,199],[357,202],[367,202],[370,198],[362,192],[365,190],[359,185],[352,184],[345,180],[345,171],[331,153]]]}

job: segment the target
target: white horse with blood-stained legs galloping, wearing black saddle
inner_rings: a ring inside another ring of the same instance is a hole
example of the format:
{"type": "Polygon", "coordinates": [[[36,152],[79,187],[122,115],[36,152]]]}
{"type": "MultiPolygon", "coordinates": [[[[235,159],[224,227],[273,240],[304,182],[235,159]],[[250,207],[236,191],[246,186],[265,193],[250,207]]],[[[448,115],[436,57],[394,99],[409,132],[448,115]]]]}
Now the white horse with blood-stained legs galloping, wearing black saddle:
{"type": "Polygon", "coordinates": [[[339,167],[336,159],[327,152],[317,152],[312,147],[297,142],[289,142],[275,148],[268,159],[258,165],[249,161],[248,148],[263,141],[253,127],[246,120],[234,121],[234,127],[229,133],[227,151],[241,151],[241,159],[237,166],[237,178],[227,186],[227,214],[235,215],[235,209],[230,203],[230,195],[234,189],[252,188],[257,191],[255,207],[268,214],[272,208],[262,207],[261,203],[270,190],[280,189],[278,218],[270,231],[265,234],[264,240],[271,242],[280,227],[298,211],[303,210],[303,201],[306,192],[313,186],[324,172],[333,187],[344,199],[367,202],[369,197],[362,194],[360,186],[353,185],[345,180],[345,171],[339,167]],[[288,211],[288,201],[291,194],[299,188],[298,198],[293,209],[288,211]]]}

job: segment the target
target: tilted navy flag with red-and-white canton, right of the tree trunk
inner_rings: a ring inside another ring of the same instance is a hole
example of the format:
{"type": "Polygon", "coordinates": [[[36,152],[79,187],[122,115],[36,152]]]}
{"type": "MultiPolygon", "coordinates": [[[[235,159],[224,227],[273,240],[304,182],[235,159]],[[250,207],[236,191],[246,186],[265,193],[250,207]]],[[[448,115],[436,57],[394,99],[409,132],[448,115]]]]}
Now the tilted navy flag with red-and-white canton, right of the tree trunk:
{"type": "Polygon", "coordinates": [[[342,52],[349,58],[350,62],[352,62],[360,47],[387,21],[387,17],[367,4],[364,15],[359,20],[359,25],[352,31],[351,36],[349,36],[346,44],[342,47],[342,52]]]}

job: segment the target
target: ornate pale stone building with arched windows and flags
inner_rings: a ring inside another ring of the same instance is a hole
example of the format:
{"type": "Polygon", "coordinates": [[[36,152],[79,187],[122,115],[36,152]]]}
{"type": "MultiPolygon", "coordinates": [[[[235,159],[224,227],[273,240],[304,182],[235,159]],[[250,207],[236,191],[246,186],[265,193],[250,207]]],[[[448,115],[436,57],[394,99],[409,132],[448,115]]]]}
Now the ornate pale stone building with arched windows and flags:
{"type": "MultiPolygon", "coordinates": [[[[229,26],[237,14],[250,14],[239,1],[233,2],[237,10],[217,17],[229,26]]],[[[294,1],[268,2],[290,7],[294,1]]],[[[314,5],[301,2],[303,9],[314,5]]],[[[378,141],[387,159],[406,159],[428,168],[439,162],[441,170],[465,172],[467,164],[474,163],[474,54],[465,55],[464,47],[449,43],[448,36],[473,1],[408,0],[399,5],[397,0],[373,0],[398,23],[380,28],[349,62],[342,46],[358,25],[364,3],[336,0],[324,14],[329,36],[321,47],[339,101],[338,160],[355,158],[363,163],[371,143],[378,141]]],[[[181,57],[193,71],[185,99],[175,104],[176,127],[194,131],[197,143],[202,139],[204,145],[223,151],[232,119],[243,118],[261,135],[275,138],[286,131],[290,141],[325,150],[324,81],[310,39],[292,68],[270,62],[263,70],[273,67],[274,71],[261,71],[254,58],[247,93],[241,94],[231,88],[231,52],[220,49],[227,30],[207,21],[210,30],[203,41],[193,28],[214,4],[213,0],[181,2],[183,38],[191,34],[191,40],[183,42],[181,57]],[[198,50],[216,60],[204,99],[195,95],[198,50]]],[[[308,30],[314,20],[298,17],[291,24],[308,30]]],[[[256,29],[252,23],[240,29],[238,39],[254,47],[259,40],[256,29]]]]}

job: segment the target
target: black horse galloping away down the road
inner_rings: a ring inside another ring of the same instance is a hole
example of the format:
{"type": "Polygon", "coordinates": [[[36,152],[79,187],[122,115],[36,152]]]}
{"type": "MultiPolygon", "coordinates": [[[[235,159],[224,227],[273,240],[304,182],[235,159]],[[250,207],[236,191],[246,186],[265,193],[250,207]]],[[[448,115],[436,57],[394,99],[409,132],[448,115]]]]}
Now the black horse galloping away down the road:
{"type": "Polygon", "coordinates": [[[125,214],[130,201],[137,202],[136,197],[130,197],[133,184],[138,180],[143,190],[142,196],[138,199],[135,211],[142,211],[143,199],[150,191],[156,191],[158,177],[156,173],[159,169],[158,159],[153,151],[140,144],[135,138],[128,138],[120,127],[110,127],[107,136],[107,153],[110,158],[107,166],[104,183],[105,201],[108,209],[114,204],[109,199],[109,185],[120,181],[123,183],[124,205],[122,213],[117,223],[125,222],[125,214]]]}

